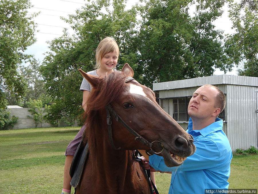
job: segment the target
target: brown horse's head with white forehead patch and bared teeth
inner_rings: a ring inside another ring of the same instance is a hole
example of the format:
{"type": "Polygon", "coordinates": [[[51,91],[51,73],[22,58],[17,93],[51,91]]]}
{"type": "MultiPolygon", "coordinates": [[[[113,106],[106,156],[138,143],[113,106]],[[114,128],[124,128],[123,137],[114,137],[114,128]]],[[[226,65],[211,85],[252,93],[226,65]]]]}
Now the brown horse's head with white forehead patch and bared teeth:
{"type": "MultiPolygon", "coordinates": [[[[155,152],[164,157],[169,167],[181,165],[186,157],[195,152],[191,135],[158,105],[155,93],[136,80],[125,82],[134,74],[128,64],[124,65],[122,72],[114,72],[105,78],[80,71],[93,86],[87,101],[87,114],[96,115],[99,110],[106,120],[108,113],[105,107],[111,105],[109,111],[115,146],[155,152]],[[118,118],[122,118],[136,133],[130,132],[118,118]]],[[[105,128],[107,130],[107,124],[105,128]]]]}

